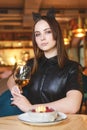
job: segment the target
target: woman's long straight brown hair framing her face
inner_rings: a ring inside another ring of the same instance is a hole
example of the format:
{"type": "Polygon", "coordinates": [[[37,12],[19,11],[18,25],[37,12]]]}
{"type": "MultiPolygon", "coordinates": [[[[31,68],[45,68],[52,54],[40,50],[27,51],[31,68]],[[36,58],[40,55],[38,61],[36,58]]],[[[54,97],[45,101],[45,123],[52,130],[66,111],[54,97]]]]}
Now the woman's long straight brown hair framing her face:
{"type": "Polygon", "coordinates": [[[60,25],[55,18],[48,17],[48,16],[40,16],[40,18],[35,21],[35,24],[33,27],[32,42],[33,42],[34,54],[35,54],[33,70],[35,71],[38,67],[38,58],[44,55],[43,51],[40,50],[37,46],[37,43],[35,41],[35,33],[34,33],[35,25],[40,20],[45,20],[49,24],[52,30],[53,38],[56,40],[58,65],[60,68],[63,68],[65,65],[66,59],[68,59],[68,56],[65,50],[60,25]]]}

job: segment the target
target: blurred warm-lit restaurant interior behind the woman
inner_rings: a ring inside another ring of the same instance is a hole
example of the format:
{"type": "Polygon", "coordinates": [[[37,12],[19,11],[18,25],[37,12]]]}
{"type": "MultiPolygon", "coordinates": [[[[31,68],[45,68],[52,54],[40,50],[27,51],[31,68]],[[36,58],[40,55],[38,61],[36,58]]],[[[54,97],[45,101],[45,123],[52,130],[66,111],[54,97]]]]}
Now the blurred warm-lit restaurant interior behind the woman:
{"type": "Polygon", "coordinates": [[[69,58],[87,67],[86,0],[0,0],[0,74],[22,61],[27,52],[34,57],[32,12],[46,14],[51,7],[69,58]]]}

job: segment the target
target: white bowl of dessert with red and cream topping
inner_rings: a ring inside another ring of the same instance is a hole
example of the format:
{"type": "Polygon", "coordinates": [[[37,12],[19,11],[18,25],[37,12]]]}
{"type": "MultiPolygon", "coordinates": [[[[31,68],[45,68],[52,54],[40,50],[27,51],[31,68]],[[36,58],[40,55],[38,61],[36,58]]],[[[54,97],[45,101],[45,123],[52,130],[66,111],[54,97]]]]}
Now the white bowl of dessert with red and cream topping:
{"type": "Polygon", "coordinates": [[[29,111],[28,116],[31,122],[49,122],[57,118],[58,112],[49,107],[39,106],[29,111]]]}

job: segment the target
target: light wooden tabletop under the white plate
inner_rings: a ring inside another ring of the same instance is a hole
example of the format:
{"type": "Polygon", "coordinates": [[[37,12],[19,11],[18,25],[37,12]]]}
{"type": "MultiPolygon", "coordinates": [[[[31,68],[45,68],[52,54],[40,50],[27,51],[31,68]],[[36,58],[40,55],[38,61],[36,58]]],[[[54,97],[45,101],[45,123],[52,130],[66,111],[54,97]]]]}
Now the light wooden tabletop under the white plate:
{"type": "Polygon", "coordinates": [[[87,115],[72,114],[66,120],[51,126],[31,126],[22,123],[17,116],[1,117],[0,130],[87,130],[87,115]]]}

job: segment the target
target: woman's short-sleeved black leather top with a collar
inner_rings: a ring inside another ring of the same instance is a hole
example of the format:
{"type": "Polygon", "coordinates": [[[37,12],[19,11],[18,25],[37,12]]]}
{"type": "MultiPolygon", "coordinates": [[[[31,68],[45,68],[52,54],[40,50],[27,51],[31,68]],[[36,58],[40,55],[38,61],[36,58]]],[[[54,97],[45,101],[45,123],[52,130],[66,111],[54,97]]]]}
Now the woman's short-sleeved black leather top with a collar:
{"type": "MultiPolygon", "coordinates": [[[[29,65],[32,65],[32,60],[29,65]]],[[[82,91],[80,66],[67,60],[63,69],[57,63],[57,57],[39,60],[37,72],[31,76],[28,85],[28,99],[32,104],[48,103],[66,96],[69,90],[82,91]]]]}

